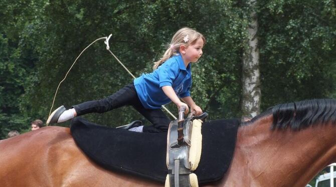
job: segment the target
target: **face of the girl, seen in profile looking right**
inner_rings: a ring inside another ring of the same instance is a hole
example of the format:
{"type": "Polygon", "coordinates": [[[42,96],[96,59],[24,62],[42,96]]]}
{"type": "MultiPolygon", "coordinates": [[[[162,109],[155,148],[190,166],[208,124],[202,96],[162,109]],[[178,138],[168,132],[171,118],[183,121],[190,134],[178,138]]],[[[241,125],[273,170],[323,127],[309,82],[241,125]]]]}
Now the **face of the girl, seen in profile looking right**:
{"type": "Polygon", "coordinates": [[[188,62],[197,62],[202,56],[204,41],[202,38],[198,38],[194,44],[190,44],[185,48],[185,60],[188,62]]]}

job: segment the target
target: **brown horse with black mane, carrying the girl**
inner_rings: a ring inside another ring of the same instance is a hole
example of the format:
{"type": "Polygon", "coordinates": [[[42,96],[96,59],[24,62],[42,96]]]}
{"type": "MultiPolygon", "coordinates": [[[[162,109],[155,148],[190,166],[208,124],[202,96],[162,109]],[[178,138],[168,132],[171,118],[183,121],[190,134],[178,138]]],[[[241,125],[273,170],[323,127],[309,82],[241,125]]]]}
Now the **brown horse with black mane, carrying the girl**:
{"type": "MultiPolygon", "coordinates": [[[[304,186],[336,162],[336,100],[279,104],[238,129],[234,157],[204,186],[304,186]]],[[[0,141],[1,186],[162,186],[105,170],[76,146],[69,128],[48,126],[0,141]]]]}

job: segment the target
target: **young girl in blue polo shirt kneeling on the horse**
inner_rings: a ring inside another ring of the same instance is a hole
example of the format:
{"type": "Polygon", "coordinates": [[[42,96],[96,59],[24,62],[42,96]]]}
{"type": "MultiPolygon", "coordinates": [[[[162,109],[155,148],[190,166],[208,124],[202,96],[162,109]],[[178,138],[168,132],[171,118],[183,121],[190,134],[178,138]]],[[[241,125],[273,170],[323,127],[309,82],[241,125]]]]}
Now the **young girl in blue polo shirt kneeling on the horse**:
{"type": "Polygon", "coordinates": [[[163,57],[154,63],[153,72],[142,74],[106,98],[74,105],[68,110],[60,106],[49,116],[47,124],[63,122],[86,113],[103,113],[120,106],[132,105],[153,125],[132,123],[126,129],[166,132],[171,120],[160,109],[161,105],[173,101],[178,107],[185,105],[186,113],[190,106],[191,111],[194,110],[197,115],[202,114],[202,109],[190,96],[191,63],[197,62],[201,57],[205,42],[205,37],[200,32],[189,27],[181,28],[174,34],[163,57]]]}

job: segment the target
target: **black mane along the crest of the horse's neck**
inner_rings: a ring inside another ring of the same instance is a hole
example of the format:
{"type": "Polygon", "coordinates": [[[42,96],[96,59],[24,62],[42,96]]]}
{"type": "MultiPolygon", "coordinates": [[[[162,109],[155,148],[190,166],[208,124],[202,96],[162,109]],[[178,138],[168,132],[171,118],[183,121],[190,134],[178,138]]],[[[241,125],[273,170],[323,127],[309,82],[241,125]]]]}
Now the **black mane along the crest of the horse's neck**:
{"type": "Polygon", "coordinates": [[[311,99],[278,104],[267,109],[264,113],[257,115],[248,123],[252,123],[269,114],[273,114],[272,129],[285,129],[290,127],[298,130],[317,123],[335,123],[336,100],[311,99]]]}

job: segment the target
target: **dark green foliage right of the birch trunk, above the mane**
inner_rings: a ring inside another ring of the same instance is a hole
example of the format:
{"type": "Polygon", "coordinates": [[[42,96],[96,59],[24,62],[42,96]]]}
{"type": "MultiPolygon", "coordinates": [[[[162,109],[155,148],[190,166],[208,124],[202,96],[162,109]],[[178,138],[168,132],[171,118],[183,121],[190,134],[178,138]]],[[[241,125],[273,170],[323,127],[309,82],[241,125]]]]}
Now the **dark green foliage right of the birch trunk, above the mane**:
{"type": "Polygon", "coordinates": [[[267,0],[258,11],[263,108],[334,97],[335,2],[267,0]]]}

